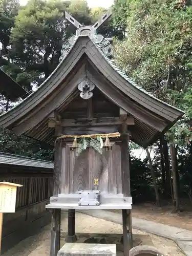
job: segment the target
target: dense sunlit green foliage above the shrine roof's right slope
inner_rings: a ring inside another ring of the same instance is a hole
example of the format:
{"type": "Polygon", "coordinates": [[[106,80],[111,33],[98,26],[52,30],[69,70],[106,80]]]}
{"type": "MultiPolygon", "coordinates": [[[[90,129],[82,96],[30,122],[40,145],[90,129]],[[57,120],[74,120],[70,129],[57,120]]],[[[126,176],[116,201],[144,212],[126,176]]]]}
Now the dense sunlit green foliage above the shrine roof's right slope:
{"type": "MultiPolygon", "coordinates": [[[[123,3],[115,1],[118,5],[123,3]]],[[[123,18],[118,22],[124,26],[126,18],[127,35],[123,41],[114,41],[115,61],[146,91],[186,111],[182,122],[168,134],[176,132],[174,140],[185,144],[190,137],[187,130],[191,116],[192,4],[175,0],[127,0],[123,6],[123,18]],[[183,134],[187,136],[184,140],[183,134]]]]}

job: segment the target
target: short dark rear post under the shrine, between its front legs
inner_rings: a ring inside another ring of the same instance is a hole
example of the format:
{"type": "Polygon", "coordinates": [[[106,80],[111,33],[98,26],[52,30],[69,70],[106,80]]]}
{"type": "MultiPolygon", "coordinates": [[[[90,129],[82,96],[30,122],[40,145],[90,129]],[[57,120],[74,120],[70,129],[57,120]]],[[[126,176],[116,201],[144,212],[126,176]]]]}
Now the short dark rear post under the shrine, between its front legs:
{"type": "Polygon", "coordinates": [[[66,236],[66,242],[73,243],[77,241],[75,234],[75,209],[68,210],[68,234],[66,236]]]}

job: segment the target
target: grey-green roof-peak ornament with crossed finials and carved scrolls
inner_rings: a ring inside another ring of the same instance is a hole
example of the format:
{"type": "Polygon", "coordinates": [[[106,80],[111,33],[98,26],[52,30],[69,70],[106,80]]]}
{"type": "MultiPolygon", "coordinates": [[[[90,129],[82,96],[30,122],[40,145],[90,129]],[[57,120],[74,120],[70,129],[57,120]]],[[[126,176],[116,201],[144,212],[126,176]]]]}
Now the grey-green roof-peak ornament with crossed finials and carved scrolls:
{"type": "Polygon", "coordinates": [[[106,57],[112,57],[113,51],[111,48],[110,41],[106,38],[104,38],[102,35],[97,34],[97,29],[112,15],[111,8],[106,12],[104,15],[102,15],[97,22],[92,26],[83,26],[80,24],[73,16],[71,16],[68,12],[65,12],[66,19],[73,24],[77,30],[76,34],[72,35],[68,40],[66,40],[61,49],[61,56],[59,60],[61,61],[66,57],[68,52],[71,50],[73,45],[75,44],[75,41],[79,36],[89,36],[90,39],[94,42],[94,44],[100,49],[100,51],[106,56],[106,57]]]}

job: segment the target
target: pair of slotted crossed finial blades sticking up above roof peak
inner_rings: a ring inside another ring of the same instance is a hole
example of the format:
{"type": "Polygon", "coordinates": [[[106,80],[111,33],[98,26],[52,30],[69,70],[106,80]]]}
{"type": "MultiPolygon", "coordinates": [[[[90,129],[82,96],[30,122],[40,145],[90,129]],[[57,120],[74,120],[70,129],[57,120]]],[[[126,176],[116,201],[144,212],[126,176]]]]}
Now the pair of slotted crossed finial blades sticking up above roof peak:
{"type": "MultiPolygon", "coordinates": [[[[112,15],[112,10],[110,8],[105,14],[103,14],[97,20],[97,22],[92,27],[94,27],[95,29],[98,29],[105,22],[105,20],[107,20],[111,17],[111,15],[112,15]]],[[[77,29],[83,26],[79,22],[77,22],[77,20],[74,17],[72,17],[68,12],[66,12],[66,19],[70,23],[72,23],[77,29]]]]}

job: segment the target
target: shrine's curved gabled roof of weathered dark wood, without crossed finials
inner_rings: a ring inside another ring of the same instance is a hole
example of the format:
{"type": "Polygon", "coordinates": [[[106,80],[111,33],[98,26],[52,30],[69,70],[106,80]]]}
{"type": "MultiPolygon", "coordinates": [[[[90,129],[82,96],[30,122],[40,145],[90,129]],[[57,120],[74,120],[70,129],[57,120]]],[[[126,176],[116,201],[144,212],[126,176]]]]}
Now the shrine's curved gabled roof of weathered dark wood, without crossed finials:
{"type": "Polygon", "coordinates": [[[77,87],[85,77],[135,118],[135,125],[130,126],[132,139],[143,147],[156,141],[181,118],[184,112],[155,98],[127,77],[110,60],[109,41],[92,32],[92,26],[77,29],[76,36],[63,45],[57,68],[37,91],[0,116],[1,126],[17,135],[53,143],[54,129],[48,127],[49,115],[65,111],[79,95],[77,87]],[[86,34],[84,31],[89,29],[91,32],[86,34]]]}

